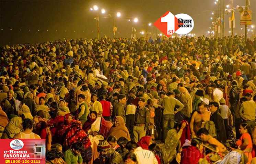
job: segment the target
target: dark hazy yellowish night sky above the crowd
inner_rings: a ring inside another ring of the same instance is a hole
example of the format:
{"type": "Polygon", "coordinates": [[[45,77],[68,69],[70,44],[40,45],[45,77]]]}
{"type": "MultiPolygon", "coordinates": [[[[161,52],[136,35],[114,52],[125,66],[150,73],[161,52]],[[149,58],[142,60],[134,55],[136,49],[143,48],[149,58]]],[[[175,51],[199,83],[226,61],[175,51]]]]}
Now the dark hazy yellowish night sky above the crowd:
{"type": "MultiPolygon", "coordinates": [[[[230,1],[225,0],[225,4],[228,3],[230,1]]],[[[113,20],[104,17],[109,13],[115,15],[117,11],[121,17],[116,20],[116,37],[131,36],[129,17],[138,17],[139,22],[134,27],[140,37],[139,31],[146,30],[145,25],[154,23],[166,11],[190,15],[195,22],[191,33],[207,36],[211,12],[217,10],[214,0],[0,0],[0,44],[94,38],[97,36],[96,13],[90,11],[90,7],[95,4],[106,10],[105,15],[100,14],[101,37],[104,34],[112,37],[113,20]]],[[[245,5],[245,0],[233,0],[233,5],[245,5]]],[[[250,9],[253,10],[253,24],[256,24],[256,0],[251,0],[250,9]]],[[[240,26],[239,16],[236,11],[234,34],[244,33],[240,29],[244,26],[240,26]]],[[[228,15],[225,15],[225,35],[229,30],[228,15]]],[[[149,27],[149,32],[160,33],[155,27],[149,27]]]]}

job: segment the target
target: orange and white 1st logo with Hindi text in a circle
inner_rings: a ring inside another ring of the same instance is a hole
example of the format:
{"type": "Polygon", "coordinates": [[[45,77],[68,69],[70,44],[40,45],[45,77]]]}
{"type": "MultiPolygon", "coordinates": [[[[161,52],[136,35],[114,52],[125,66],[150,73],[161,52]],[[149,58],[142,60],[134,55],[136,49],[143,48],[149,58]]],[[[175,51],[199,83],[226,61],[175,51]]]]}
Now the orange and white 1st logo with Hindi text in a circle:
{"type": "Polygon", "coordinates": [[[173,15],[167,11],[157,21],[154,26],[157,27],[167,37],[174,33],[187,34],[194,28],[194,20],[187,14],[173,15]]]}

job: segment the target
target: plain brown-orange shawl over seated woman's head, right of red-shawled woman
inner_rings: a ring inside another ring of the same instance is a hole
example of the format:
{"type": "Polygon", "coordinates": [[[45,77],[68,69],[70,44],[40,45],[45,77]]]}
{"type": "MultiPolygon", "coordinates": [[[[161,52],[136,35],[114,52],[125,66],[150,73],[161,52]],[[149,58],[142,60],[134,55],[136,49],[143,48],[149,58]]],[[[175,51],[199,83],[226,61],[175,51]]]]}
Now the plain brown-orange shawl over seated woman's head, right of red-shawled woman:
{"type": "Polygon", "coordinates": [[[131,140],[129,130],[125,126],[124,118],[121,116],[116,116],[115,119],[118,120],[119,125],[118,126],[112,126],[109,130],[108,136],[115,136],[118,140],[120,137],[125,137],[128,139],[128,141],[131,140]]]}

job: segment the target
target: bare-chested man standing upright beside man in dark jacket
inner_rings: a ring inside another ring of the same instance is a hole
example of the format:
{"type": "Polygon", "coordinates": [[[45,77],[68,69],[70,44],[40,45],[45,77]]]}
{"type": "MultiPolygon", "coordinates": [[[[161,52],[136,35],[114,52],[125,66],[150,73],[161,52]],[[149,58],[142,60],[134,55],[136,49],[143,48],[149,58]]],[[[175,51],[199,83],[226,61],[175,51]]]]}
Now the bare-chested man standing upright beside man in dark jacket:
{"type": "Polygon", "coordinates": [[[190,121],[190,130],[192,133],[192,137],[196,137],[196,132],[204,127],[206,121],[210,121],[211,112],[209,112],[206,108],[206,104],[200,102],[198,104],[198,111],[195,111],[192,115],[190,121]]]}

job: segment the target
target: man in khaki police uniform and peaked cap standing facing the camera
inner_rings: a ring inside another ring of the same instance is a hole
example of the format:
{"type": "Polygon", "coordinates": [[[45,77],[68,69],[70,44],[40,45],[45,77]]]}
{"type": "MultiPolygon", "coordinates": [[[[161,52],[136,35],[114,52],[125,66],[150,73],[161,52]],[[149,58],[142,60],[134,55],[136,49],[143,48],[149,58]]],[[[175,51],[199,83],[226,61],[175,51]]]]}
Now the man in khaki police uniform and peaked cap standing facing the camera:
{"type": "Polygon", "coordinates": [[[135,126],[133,127],[135,142],[146,136],[146,130],[150,123],[150,111],[145,107],[146,100],[143,97],[138,99],[138,105],[135,113],[135,126]]]}

